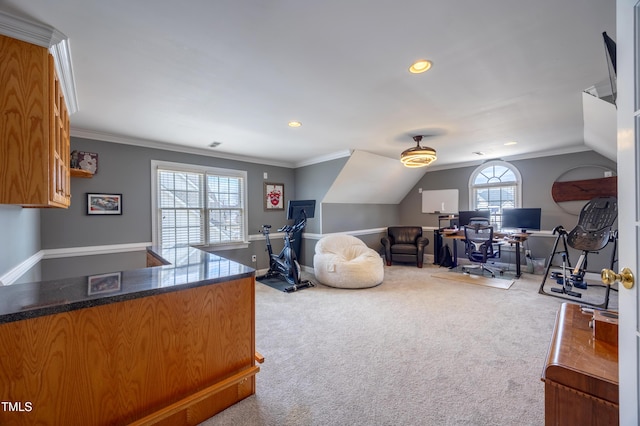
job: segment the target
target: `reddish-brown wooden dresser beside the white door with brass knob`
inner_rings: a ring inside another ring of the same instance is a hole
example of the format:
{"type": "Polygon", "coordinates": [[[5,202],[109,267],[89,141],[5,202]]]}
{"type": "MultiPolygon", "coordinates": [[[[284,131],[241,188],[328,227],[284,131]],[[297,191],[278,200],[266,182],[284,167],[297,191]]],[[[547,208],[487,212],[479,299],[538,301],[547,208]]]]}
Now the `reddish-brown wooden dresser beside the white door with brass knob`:
{"type": "Polygon", "coordinates": [[[618,347],[596,340],[592,314],[564,303],[542,373],[545,424],[617,425],[618,347]]]}

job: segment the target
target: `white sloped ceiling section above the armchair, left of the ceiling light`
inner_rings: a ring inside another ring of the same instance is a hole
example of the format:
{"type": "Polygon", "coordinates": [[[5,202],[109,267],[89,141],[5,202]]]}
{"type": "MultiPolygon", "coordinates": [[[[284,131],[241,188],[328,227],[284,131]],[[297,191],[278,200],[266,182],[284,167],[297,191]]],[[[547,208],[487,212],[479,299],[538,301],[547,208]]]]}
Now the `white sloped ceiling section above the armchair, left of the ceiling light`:
{"type": "Polygon", "coordinates": [[[322,202],[398,204],[425,172],[394,158],[354,151],[322,202]]]}

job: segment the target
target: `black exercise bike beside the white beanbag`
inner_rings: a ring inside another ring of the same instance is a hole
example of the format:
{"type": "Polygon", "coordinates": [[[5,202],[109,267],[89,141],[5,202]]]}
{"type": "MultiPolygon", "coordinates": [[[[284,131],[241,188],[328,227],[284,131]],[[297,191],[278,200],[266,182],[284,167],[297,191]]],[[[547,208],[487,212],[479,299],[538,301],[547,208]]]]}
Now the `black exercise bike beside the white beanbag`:
{"type": "Polygon", "coordinates": [[[267,251],[269,252],[269,270],[266,274],[257,277],[256,279],[260,280],[282,277],[291,284],[290,287],[287,287],[284,290],[287,293],[314,286],[311,281],[302,280],[300,277],[300,264],[296,259],[296,252],[291,246],[295,233],[302,231],[306,223],[307,217],[303,212],[302,220],[296,221],[293,226],[284,225],[282,228],[278,229],[278,232],[284,232],[284,247],[278,254],[273,253],[271,239],[269,238],[271,225],[262,225],[262,234],[267,241],[267,251]]]}

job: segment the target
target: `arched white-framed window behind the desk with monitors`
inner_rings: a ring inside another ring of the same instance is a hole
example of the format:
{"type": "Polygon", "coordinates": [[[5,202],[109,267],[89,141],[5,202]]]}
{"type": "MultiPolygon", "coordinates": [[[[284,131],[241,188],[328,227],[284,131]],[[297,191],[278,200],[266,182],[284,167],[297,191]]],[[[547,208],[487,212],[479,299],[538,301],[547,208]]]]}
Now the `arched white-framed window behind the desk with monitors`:
{"type": "Polygon", "coordinates": [[[480,165],[469,179],[471,210],[490,210],[491,222],[502,225],[502,209],[522,205],[522,177],[513,165],[505,161],[488,161],[480,165]]]}

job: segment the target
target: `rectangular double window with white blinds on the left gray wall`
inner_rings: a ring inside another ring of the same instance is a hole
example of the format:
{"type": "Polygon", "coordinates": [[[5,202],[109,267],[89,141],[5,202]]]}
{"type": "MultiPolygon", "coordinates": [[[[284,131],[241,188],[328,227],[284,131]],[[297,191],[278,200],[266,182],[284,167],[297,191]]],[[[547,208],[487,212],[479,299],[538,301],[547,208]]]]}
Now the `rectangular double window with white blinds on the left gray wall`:
{"type": "Polygon", "coordinates": [[[165,247],[244,243],[246,172],[158,163],[157,239],[165,247]]]}

